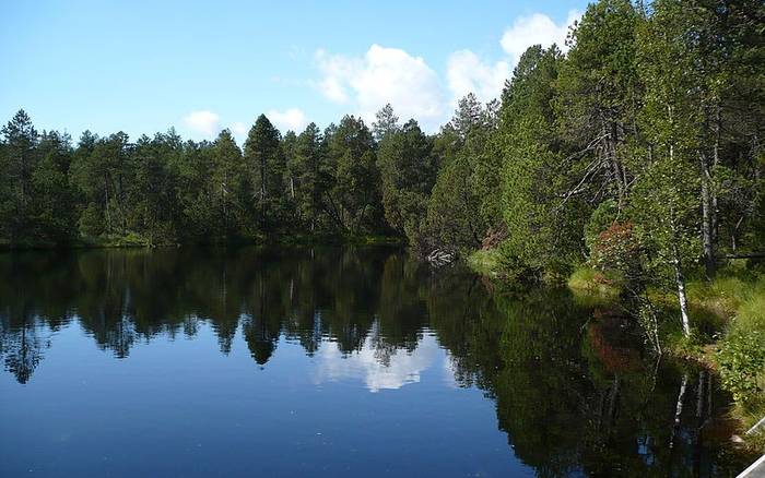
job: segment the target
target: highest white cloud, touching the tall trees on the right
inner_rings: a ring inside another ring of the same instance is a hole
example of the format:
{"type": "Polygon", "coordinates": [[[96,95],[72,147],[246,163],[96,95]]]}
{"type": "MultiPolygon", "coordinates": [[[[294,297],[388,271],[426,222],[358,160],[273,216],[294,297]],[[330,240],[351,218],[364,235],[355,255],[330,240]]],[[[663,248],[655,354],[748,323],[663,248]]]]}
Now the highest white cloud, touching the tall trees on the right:
{"type": "Polygon", "coordinates": [[[581,17],[581,13],[575,10],[568,12],[568,17],[562,24],[556,24],[550,16],[534,13],[531,16],[521,16],[507,28],[499,44],[502,49],[510,57],[511,63],[518,63],[520,56],[532,45],[549,47],[556,44],[562,51],[566,51],[566,35],[568,26],[581,17]]]}

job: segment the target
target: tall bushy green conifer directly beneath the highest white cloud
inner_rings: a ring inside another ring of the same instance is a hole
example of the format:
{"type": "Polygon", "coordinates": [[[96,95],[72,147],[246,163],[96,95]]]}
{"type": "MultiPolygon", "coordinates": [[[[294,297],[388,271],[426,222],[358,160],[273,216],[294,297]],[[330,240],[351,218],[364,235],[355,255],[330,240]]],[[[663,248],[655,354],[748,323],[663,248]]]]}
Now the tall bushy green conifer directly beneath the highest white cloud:
{"type": "Polygon", "coordinates": [[[532,271],[563,271],[577,262],[584,217],[578,198],[566,196],[566,162],[553,130],[554,84],[562,57],[554,46],[529,48],[503,94],[504,252],[532,271]]]}

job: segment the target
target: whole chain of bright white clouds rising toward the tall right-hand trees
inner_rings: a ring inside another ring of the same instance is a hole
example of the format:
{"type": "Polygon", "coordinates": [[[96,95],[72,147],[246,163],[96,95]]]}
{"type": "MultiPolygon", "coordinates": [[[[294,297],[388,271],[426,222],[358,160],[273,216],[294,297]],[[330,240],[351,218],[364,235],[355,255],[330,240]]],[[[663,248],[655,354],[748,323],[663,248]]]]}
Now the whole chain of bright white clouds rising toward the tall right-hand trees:
{"type": "Polygon", "coordinates": [[[317,50],[314,60],[321,79],[313,85],[330,101],[349,105],[366,121],[374,120],[375,112],[390,103],[402,120],[415,118],[425,129],[434,130],[468,93],[483,103],[498,98],[530,46],[556,44],[566,51],[568,27],[580,16],[580,12],[570,11],[561,24],[542,13],[517,19],[499,40],[505,55],[497,61],[480,58],[469,49],[454,51],[446,65],[448,88],[423,58],[376,44],[363,57],[317,50]]]}

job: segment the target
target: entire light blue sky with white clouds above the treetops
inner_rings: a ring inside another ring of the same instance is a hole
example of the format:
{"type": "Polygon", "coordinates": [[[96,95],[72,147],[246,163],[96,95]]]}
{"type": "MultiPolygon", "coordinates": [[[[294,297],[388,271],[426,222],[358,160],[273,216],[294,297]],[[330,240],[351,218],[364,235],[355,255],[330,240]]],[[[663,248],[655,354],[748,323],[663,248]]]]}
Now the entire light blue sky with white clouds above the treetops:
{"type": "Polygon", "coordinates": [[[38,130],[176,128],[243,141],[387,103],[435,132],[457,100],[499,96],[523,50],[562,45],[586,1],[0,0],[0,122],[38,130]]]}

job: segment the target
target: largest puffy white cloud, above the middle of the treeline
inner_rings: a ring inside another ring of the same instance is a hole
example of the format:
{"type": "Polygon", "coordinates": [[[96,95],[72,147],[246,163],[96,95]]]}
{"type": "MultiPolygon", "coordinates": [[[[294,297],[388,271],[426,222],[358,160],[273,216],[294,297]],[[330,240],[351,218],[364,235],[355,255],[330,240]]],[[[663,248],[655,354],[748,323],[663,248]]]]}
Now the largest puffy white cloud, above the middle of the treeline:
{"type": "Polygon", "coordinates": [[[362,58],[318,50],[315,60],[323,75],[318,89],[333,103],[353,105],[366,121],[388,103],[403,120],[416,118],[435,127],[443,119],[438,75],[421,57],[372,45],[362,58]]]}

